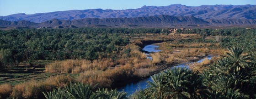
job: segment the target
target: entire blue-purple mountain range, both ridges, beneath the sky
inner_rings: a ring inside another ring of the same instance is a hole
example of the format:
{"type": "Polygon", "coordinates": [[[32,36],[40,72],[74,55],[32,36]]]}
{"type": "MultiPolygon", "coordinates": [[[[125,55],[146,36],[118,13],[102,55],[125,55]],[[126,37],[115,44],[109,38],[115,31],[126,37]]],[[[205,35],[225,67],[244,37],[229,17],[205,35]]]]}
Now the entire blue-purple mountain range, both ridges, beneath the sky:
{"type": "Polygon", "coordinates": [[[181,4],[127,10],[68,10],[0,16],[0,27],[184,27],[256,26],[256,5],[181,4]]]}

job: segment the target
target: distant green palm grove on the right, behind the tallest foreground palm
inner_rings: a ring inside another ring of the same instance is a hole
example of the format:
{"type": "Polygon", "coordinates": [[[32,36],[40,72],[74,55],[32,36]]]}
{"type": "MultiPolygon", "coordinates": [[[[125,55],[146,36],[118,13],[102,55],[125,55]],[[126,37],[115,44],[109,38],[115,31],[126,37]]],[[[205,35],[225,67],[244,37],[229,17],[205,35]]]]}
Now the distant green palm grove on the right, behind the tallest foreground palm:
{"type": "MultiPolygon", "coordinates": [[[[205,38],[214,36],[215,41],[219,42],[221,47],[230,48],[240,46],[245,52],[256,52],[256,29],[230,28],[230,29],[192,29],[183,31],[184,34],[198,34],[202,36],[204,42],[213,43],[205,38]]],[[[193,40],[189,40],[194,42],[193,40]]],[[[197,40],[197,42],[200,40],[197,40]]],[[[181,42],[182,43],[182,42],[181,42]]]]}

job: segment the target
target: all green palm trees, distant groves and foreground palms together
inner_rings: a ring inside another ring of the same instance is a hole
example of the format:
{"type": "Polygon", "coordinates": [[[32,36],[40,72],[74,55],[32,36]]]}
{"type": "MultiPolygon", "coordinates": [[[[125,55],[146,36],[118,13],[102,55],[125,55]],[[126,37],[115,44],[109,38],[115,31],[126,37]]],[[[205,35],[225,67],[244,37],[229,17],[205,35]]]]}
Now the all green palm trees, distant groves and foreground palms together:
{"type": "MultiPolygon", "coordinates": [[[[27,61],[115,59],[120,47],[129,44],[124,35],[165,33],[160,29],[41,29],[1,30],[0,68],[7,70],[27,61]],[[121,35],[122,34],[122,35],[121,35]]],[[[202,73],[190,69],[171,69],[152,76],[148,88],[127,97],[112,89],[96,89],[88,84],[70,83],[44,92],[47,99],[254,99],[256,98],[256,30],[240,28],[193,29],[202,38],[222,36],[220,45],[228,52],[202,73]]],[[[204,38],[203,38],[204,39],[204,38]]]]}

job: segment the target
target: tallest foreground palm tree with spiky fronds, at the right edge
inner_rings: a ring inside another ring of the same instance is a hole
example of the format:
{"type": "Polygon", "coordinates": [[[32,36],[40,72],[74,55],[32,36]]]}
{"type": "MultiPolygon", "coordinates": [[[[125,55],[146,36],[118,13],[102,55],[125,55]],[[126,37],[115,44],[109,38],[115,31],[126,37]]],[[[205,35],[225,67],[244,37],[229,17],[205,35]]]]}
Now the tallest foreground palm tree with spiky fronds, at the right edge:
{"type": "MultiPolygon", "coordinates": [[[[250,54],[243,54],[243,49],[233,47],[229,49],[229,53],[226,53],[224,58],[210,65],[210,68],[203,72],[203,75],[204,84],[208,84],[213,94],[212,98],[218,98],[223,94],[238,93],[239,91],[253,97],[251,91],[255,90],[255,87],[253,87],[255,84],[251,81],[255,78],[256,74],[256,64],[253,64],[253,62],[254,60],[250,54]]],[[[231,96],[223,96],[220,99],[223,98],[232,99],[231,96]]]]}

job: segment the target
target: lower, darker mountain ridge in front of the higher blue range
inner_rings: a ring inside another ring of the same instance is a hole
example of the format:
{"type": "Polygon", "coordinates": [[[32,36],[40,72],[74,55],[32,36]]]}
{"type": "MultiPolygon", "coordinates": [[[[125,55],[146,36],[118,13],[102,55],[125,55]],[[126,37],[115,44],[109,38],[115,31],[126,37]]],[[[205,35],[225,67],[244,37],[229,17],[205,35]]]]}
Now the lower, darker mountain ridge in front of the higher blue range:
{"type": "Polygon", "coordinates": [[[256,26],[251,19],[199,19],[190,16],[158,15],[136,18],[85,18],[79,20],[47,20],[42,23],[0,20],[0,28],[77,28],[77,27],[128,27],[128,28],[163,28],[163,27],[211,27],[211,26],[256,26]]]}

